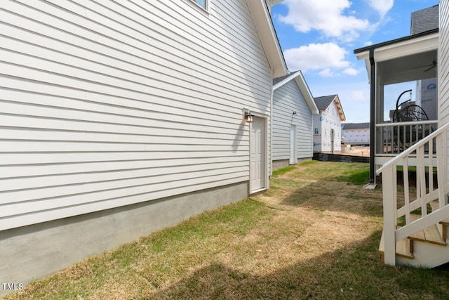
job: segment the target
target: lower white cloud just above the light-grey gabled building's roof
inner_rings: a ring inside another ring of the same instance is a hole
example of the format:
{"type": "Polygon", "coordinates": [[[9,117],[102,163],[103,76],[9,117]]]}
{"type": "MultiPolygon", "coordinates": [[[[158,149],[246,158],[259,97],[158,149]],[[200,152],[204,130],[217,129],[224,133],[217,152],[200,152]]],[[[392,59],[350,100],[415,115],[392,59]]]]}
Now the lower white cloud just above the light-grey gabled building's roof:
{"type": "Polygon", "coordinates": [[[348,51],[337,44],[325,43],[290,48],[284,51],[283,56],[289,70],[321,70],[321,76],[330,77],[335,69],[345,69],[351,73],[350,63],[345,59],[347,54],[348,51]]]}

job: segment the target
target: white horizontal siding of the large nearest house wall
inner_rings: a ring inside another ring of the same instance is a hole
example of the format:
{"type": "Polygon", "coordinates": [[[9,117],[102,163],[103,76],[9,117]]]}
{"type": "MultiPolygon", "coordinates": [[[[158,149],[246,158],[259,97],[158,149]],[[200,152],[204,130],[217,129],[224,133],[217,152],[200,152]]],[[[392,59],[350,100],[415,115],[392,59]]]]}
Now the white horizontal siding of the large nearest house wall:
{"type": "Polygon", "coordinates": [[[246,1],[2,1],[0,230],[248,181],[246,1]]]}

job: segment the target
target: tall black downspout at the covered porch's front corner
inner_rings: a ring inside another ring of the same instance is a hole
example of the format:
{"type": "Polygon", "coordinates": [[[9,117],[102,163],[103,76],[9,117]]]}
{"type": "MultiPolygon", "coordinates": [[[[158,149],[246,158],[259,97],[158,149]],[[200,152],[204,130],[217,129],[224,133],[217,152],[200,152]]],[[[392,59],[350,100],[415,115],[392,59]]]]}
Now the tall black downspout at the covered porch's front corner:
{"type": "Polygon", "coordinates": [[[370,48],[370,185],[375,185],[376,174],[375,174],[375,91],[376,91],[376,79],[375,79],[375,61],[374,61],[374,48],[370,48]]]}

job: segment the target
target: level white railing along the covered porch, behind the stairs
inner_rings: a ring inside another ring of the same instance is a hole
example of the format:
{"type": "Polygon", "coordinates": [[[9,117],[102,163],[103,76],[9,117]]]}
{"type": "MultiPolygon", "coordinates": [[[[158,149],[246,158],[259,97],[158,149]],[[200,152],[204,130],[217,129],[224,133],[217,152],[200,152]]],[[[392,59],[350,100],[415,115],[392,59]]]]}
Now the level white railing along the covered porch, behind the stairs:
{"type": "Polygon", "coordinates": [[[398,154],[436,131],[438,121],[391,122],[376,124],[376,154],[398,154]]]}

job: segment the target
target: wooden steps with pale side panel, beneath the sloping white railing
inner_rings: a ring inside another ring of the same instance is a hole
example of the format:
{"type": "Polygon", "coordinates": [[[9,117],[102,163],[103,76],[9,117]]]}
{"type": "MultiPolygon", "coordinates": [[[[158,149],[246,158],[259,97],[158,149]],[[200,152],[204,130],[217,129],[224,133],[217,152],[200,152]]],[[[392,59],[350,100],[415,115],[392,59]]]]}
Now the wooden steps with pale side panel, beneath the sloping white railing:
{"type": "MultiPolygon", "coordinates": [[[[420,215],[410,214],[410,219],[413,221],[420,217],[420,215]]],[[[434,268],[449,262],[449,247],[446,243],[448,226],[449,219],[445,219],[396,242],[396,263],[403,266],[434,268]]],[[[383,233],[379,253],[384,262],[383,233]]]]}

